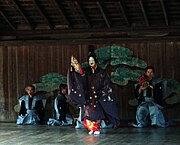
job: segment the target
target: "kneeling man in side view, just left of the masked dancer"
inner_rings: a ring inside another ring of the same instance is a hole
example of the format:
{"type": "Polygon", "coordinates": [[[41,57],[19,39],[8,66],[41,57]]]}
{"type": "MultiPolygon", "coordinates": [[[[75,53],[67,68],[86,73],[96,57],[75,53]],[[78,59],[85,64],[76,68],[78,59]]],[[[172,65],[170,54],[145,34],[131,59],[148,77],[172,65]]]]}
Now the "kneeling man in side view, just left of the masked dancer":
{"type": "Polygon", "coordinates": [[[59,85],[60,93],[57,94],[54,100],[54,118],[50,118],[48,125],[71,125],[72,117],[69,113],[69,103],[67,101],[67,85],[59,85]]]}

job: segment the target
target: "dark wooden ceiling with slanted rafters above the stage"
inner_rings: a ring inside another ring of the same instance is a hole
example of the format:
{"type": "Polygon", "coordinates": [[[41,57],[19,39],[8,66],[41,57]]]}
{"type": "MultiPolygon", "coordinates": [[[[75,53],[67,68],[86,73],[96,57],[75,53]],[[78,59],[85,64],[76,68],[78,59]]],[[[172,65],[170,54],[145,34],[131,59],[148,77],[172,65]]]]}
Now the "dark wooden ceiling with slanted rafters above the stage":
{"type": "Polygon", "coordinates": [[[0,0],[0,41],[146,37],[180,37],[180,0],[0,0]]]}

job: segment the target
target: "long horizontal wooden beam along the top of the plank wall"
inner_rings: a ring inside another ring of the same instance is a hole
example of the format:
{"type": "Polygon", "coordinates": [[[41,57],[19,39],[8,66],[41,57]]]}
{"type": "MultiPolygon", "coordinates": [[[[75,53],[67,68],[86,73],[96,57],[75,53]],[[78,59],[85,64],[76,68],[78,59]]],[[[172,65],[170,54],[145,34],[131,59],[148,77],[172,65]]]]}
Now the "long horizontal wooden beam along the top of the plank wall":
{"type": "MultiPolygon", "coordinates": [[[[180,36],[168,36],[168,37],[138,37],[138,38],[89,38],[89,39],[82,39],[82,38],[73,38],[73,39],[49,39],[49,37],[44,39],[4,39],[0,41],[0,45],[29,45],[29,44],[43,44],[43,45],[56,45],[56,44],[94,44],[94,43],[102,43],[102,44],[112,44],[112,43],[120,43],[120,42],[144,42],[144,41],[161,41],[161,40],[170,40],[170,41],[178,41],[180,36]],[[26,40],[26,41],[25,41],[26,40]]],[[[0,39],[1,40],[1,39],[0,39]]]]}

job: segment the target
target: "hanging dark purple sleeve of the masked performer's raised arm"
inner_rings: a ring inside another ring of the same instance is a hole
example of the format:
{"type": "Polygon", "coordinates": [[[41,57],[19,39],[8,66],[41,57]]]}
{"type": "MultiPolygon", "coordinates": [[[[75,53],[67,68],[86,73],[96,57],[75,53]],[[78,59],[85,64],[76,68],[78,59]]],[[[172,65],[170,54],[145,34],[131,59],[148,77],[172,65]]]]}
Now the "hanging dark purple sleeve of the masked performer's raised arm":
{"type": "Polygon", "coordinates": [[[68,70],[67,85],[69,99],[74,103],[84,105],[86,103],[84,96],[84,74],[81,75],[68,70]]]}

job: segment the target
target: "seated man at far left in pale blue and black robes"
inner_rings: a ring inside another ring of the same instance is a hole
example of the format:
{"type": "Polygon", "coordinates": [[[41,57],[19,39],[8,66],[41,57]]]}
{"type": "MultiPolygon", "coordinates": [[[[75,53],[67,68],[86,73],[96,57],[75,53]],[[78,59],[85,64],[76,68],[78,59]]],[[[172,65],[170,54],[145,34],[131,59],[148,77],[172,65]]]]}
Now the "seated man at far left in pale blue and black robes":
{"type": "Polygon", "coordinates": [[[46,100],[35,94],[33,85],[27,86],[25,91],[27,94],[19,99],[20,112],[16,124],[43,124],[46,100]]]}

